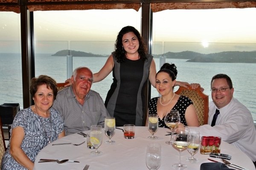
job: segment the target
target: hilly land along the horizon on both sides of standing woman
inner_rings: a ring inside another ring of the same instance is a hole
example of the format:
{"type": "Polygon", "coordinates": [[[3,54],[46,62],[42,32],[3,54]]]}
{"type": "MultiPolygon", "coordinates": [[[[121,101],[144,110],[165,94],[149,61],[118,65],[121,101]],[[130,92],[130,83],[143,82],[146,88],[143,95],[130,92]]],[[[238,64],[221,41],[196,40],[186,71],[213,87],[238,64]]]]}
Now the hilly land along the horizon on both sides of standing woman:
{"type": "MultiPolygon", "coordinates": [[[[74,57],[108,57],[109,55],[99,55],[86,53],[83,51],[61,50],[52,56],[74,57]]],[[[256,63],[256,51],[224,51],[220,53],[201,54],[194,51],[167,52],[164,54],[153,54],[154,58],[165,56],[172,59],[188,59],[186,62],[227,62],[227,63],[256,63]]]]}

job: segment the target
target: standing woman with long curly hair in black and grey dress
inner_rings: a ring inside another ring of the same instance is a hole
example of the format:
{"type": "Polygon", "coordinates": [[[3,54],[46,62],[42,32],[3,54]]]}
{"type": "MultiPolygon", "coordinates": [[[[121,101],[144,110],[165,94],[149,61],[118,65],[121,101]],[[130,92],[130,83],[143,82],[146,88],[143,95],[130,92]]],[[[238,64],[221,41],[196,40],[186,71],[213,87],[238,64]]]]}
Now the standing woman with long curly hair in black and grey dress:
{"type": "MultiPolygon", "coordinates": [[[[116,126],[143,125],[145,109],[145,86],[147,81],[155,87],[156,65],[146,48],[139,31],[126,26],[116,38],[115,51],[108,57],[103,68],[93,74],[99,82],[113,71],[113,83],[108,91],[105,106],[116,126]]],[[[183,86],[189,85],[184,82],[183,86]]]]}

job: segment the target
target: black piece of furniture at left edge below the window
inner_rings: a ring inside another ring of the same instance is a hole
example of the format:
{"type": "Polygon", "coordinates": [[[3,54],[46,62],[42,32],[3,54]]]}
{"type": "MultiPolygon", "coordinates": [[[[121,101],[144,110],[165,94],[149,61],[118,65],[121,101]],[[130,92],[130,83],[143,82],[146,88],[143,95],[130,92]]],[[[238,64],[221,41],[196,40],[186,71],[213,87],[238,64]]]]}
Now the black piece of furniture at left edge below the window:
{"type": "Polygon", "coordinates": [[[0,117],[2,126],[8,127],[9,139],[10,139],[10,129],[12,122],[16,114],[20,111],[19,103],[4,103],[0,105],[0,117]]]}

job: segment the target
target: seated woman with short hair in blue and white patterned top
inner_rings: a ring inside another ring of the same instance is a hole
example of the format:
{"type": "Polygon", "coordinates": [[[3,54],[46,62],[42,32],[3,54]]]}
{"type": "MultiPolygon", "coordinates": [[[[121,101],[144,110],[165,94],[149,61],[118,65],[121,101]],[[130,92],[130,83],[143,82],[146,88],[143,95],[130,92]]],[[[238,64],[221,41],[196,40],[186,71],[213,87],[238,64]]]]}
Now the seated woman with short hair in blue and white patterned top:
{"type": "Polygon", "coordinates": [[[2,170],[32,170],[40,150],[65,136],[60,114],[50,109],[57,95],[56,81],[46,75],[32,78],[30,93],[35,105],[15,116],[2,170]]]}

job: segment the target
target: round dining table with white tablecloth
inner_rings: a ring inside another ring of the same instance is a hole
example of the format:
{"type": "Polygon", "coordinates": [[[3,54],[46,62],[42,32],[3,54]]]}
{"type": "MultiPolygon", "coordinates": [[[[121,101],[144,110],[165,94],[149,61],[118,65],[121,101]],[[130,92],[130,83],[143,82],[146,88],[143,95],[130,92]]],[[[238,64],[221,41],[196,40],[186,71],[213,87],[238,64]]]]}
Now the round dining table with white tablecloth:
{"type": "MultiPolygon", "coordinates": [[[[90,130],[84,131],[84,133],[88,132],[90,132],[90,130]]],[[[179,150],[175,149],[175,147],[170,144],[166,144],[166,141],[169,141],[171,138],[170,135],[166,136],[166,134],[169,134],[168,132],[170,132],[168,128],[159,127],[154,134],[158,139],[153,140],[148,139],[148,136],[151,135],[148,131],[148,127],[136,126],[134,139],[125,139],[123,131],[116,129],[114,136],[111,138],[115,141],[115,144],[105,144],[108,137],[104,133],[104,128],[102,128],[103,140],[98,148],[98,150],[102,151],[102,155],[98,156],[90,154],[94,149],[87,148],[86,137],[74,133],[44,147],[35,159],[34,170],[83,170],[86,164],[90,165],[88,170],[148,170],[145,161],[148,143],[158,143],[161,145],[161,165],[159,170],[174,170],[172,164],[179,162],[179,150]],[[80,144],[84,141],[85,143],[79,146],[73,145],[80,144]],[[52,145],[59,143],[73,144],[52,145]],[[79,163],[38,163],[40,159],[69,159],[79,161],[79,163]]],[[[255,166],[250,158],[232,144],[221,141],[221,153],[231,155],[232,158],[229,160],[231,163],[248,170],[255,170],[255,166]]],[[[187,165],[186,170],[200,170],[202,163],[211,162],[208,159],[221,162],[221,159],[201,154],[200,150],[195,154],[195,158],[198,158],[198,162],[191,163],[186,161],[186,158],[190,156],[186,149],[181,152],[181,163],[187,165]]]]}

